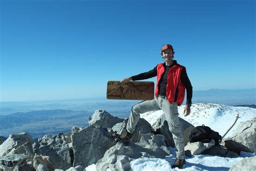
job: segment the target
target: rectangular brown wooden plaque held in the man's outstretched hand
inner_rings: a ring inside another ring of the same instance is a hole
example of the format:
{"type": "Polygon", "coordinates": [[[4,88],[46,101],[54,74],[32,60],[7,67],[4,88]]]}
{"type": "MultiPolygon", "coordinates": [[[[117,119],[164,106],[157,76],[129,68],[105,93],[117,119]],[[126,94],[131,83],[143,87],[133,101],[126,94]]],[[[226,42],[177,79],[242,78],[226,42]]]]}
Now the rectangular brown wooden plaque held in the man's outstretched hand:
{"type": "Polygon", "coordinates": [[[154,99],[154,82],[129,81],[120,85],[120,81],[107,82],[107,99],[152,100],[154,99]]]}

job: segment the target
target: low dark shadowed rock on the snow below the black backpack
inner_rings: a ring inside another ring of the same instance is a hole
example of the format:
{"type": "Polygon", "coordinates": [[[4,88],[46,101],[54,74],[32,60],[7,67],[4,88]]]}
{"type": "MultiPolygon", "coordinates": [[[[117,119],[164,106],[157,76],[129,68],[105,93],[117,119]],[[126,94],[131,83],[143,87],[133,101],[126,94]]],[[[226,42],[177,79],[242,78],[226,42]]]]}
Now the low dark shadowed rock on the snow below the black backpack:
{"type": "Polygon", "coordinates": [[[212,146],[211,148],[206,149],[201,154],[218,155],[223,156],[224,158],[237,158],[239,156],[239,154],[229,151],[228,149],[221,146],[212,146]]]}

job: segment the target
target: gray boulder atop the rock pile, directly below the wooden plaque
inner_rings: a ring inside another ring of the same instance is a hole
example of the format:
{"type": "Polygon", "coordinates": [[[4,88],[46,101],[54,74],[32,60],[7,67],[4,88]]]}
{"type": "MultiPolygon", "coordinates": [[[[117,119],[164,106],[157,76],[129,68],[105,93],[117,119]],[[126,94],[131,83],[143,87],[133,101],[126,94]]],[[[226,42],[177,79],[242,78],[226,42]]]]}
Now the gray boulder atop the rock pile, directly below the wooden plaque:
{"type": "Polygon", "coordinates": [[[105,128],[112,128],[119,122],[123,122],[124,119],[113,117],[111,114],[104,110],[97,110],[91,117],[89,117],[89,125],[102,126],[105,128]]]}

